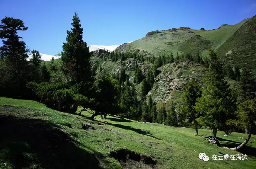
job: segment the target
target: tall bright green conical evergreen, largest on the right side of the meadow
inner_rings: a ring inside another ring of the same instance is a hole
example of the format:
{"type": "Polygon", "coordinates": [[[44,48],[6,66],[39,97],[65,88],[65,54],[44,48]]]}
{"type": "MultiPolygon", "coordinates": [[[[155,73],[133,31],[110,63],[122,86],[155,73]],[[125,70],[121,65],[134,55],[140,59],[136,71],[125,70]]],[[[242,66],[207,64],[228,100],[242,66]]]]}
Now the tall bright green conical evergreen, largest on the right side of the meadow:
{"type": "Polygon", "coordinates": [[[226,122],[234,118],[236,99],[232,96],[229,85],[224,79],[222,62],[219,56],[209,48],[209,68],[202,90],[202,97],[198,98],[196,111],[202,116],[199,117],[199,124],[212,128],[212,140],[216,140],[217,128],[227,131],[226,122]]]}

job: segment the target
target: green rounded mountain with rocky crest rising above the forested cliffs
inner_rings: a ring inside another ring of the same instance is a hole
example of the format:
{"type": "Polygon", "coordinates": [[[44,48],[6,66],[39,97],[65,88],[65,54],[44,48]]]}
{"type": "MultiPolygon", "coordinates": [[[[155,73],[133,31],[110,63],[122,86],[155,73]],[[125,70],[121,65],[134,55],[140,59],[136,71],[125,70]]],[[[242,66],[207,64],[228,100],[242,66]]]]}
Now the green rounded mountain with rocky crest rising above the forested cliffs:
{"type": "Polygon", "coordinates": [[[151,31],[141,39],[120,45],[115,51],[121,53],[136,51],[145,56],[155,57],[172,52],[175,57],[177,52],[206,55],[210,46],[219,51],[221,56],[225,56],[229,50],[235,48],[236,54],[240,55],[244,49],[250,48],[250,51],[254,49],[252,46],[255,46],[255,20],[256,16],[244,19],[235,25],[223,24],[213,30],[180,27],[151,31]]]}

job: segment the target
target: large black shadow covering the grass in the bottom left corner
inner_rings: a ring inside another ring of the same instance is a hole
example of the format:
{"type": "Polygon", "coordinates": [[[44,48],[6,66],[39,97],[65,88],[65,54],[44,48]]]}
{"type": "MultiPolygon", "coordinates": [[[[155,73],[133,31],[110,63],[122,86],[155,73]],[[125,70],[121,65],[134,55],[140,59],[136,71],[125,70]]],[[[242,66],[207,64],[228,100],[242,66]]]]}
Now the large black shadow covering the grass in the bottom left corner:
{"type": "Polygon", "coordinates": [[[45,120],[0,114],[0,152],[14,168],[100,168],[95,155],[74,142],[45,120]]]}

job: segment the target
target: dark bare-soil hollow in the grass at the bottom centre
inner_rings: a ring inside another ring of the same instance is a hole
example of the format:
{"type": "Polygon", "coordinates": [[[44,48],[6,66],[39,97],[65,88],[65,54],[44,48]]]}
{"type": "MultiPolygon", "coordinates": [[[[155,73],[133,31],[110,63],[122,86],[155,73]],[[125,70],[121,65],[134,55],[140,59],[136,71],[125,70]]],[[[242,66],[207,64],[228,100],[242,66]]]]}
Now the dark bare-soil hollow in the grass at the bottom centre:
{"type": "Polygon", "coordinates": [[[117,159],[123,168],[154,168],[156,165],[156,161],[151,156],[127,149],[112,151],[110,156],[117,159]]]}

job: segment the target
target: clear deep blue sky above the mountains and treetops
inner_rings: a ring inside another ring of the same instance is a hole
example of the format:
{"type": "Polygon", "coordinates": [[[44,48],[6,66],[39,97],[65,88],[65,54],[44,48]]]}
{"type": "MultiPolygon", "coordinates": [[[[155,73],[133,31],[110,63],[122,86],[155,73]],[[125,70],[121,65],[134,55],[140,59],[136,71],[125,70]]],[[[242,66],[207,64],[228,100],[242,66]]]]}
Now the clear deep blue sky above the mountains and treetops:
{"type": "MultiPolygon", "coordinates": [[[[0,18],[19,18],[27,47],[55,55],[62,51],[66,30],[78,12],[87,45],[119,45],[153,30],[173,27],[218,28],[256,15],[254,0],[222,1],[0,1],[0,18]]],[[[2,43],[0,42],[0,46],[2,43]]]]}

